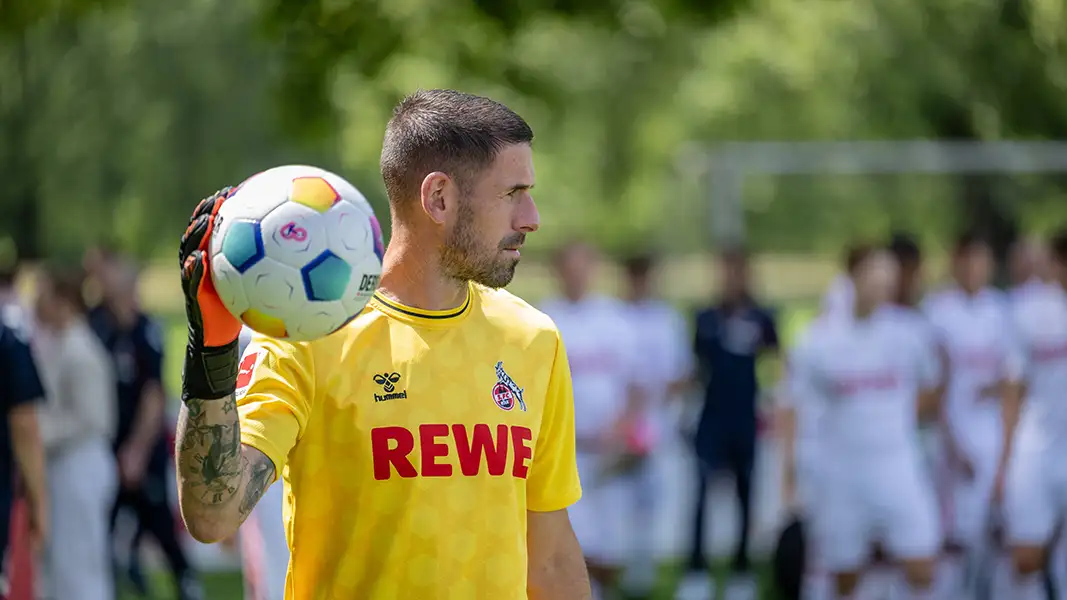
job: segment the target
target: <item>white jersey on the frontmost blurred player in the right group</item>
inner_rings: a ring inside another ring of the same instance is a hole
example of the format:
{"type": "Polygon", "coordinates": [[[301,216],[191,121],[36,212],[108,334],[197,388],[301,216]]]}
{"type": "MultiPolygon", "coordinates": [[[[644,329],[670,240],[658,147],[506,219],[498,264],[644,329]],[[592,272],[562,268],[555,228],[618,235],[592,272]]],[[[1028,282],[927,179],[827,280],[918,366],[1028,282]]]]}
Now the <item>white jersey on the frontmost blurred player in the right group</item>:
{"type": "Polygon", "coordinates": [[[931,341],[901,311],[817,320],[789,369],[786,397],[800,413],[817,411],[822,456],[918,456],[915,401],[937,384],[939,368],[931,341]]]}

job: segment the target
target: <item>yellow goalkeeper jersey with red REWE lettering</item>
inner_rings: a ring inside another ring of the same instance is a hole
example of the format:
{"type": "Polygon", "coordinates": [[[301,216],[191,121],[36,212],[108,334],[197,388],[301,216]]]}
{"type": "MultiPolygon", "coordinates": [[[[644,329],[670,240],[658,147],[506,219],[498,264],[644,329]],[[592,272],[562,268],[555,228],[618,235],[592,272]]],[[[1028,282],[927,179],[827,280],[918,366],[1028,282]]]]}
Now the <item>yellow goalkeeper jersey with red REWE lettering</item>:
{"type": "Polygon", "coordinates": [[[285,485],[291,600],[526,598],[526,511],[582,495],[552,320],[471,285],[453,311],[377,295],[310,343],[257,335],[241,440],[285,485]]]}

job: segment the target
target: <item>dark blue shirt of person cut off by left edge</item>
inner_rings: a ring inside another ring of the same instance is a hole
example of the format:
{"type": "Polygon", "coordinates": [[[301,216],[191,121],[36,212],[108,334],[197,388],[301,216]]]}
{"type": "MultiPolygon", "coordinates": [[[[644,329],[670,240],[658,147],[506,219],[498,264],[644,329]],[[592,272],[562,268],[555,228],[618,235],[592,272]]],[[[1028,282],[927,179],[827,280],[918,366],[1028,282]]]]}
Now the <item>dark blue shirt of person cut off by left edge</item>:
{"type": "Polygon", "coordinates": [[[0,548],[6,546],[15,457],[11,444],[11,411],[45,396],[37,366],[30,353],[29,336],[16,306],[0,306],[0,548]]]}

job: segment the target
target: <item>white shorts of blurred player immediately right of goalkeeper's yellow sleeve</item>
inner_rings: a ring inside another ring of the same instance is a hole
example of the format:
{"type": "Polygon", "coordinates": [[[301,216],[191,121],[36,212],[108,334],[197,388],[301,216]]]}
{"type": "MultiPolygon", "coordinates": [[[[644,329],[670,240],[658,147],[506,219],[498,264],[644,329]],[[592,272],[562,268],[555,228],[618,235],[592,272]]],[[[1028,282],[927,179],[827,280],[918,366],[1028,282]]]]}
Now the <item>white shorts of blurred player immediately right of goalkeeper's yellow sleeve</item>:
{"type": "Polygon", "coordinates": [[[633,477],[602,475],[600,457],[579,454],[582,500],[568,508],[582,552],[590,560],[623,565],[633,546],[637,490],[633,477]]]}

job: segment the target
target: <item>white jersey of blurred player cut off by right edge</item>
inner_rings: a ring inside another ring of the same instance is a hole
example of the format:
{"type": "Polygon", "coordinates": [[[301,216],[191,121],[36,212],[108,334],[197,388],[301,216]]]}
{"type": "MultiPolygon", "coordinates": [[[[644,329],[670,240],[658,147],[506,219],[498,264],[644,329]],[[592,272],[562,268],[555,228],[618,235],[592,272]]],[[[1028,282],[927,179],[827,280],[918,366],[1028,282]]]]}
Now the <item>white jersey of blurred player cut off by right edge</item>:
{"type": "Polygon", "coordinates": [[[1009,375],[1026,385],[1019,436],[1067,441],[1067,291],[1035,288],[1012,306],[1015,332],[1009,375]]]}

